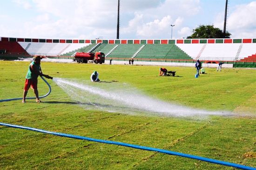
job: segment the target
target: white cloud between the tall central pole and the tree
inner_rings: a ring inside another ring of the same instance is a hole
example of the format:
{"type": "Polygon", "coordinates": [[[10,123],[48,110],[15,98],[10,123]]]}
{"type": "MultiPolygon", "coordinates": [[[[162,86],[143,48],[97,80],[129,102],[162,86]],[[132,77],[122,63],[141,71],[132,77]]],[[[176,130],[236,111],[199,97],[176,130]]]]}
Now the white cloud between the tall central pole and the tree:
{"type": "Polygon", "coordinates": [[[124,26],[123,31],[131,38],[134,35],[141,38],[169,38],[171,24],[175,25],[175,30],[179,30],[184,18],[195,15],[200,9],[199,0],[165,0],[155,8],[136,11],[134,18],[128,21],[129,24],[124,26]]]}

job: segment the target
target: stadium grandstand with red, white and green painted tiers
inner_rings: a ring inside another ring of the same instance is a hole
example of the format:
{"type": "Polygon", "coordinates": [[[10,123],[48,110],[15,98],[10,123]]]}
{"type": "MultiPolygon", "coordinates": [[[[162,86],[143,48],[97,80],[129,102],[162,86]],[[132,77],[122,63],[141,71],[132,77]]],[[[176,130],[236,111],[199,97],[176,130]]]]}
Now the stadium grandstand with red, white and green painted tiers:
{"type": "Polygon", "coordinates": [[[237,39],[37,39],[0,38],[0,59],[42,55],[71,59],[74,52],[106,54],[106,60],[233,63],[256,67],[256,38],[237,39]]]}

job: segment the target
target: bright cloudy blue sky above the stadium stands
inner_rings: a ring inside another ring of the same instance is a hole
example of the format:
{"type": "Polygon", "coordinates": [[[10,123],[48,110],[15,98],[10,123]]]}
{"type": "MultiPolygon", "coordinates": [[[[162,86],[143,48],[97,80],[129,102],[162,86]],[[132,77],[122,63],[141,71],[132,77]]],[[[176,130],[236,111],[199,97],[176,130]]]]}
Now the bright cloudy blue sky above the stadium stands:
{"type": "MultiPolygon", "coordinates": [[[[115,39],[118,0],[0,0],[0,37],[115,39]]],[[[223,30],[226,0],[120,0],[120,39],[187,38],[223,30]],[[175,26],[170,26],[175,25],[175,26]]],[[[256,0],[229,0],[231,38],[256,38],[256,0]]]]}

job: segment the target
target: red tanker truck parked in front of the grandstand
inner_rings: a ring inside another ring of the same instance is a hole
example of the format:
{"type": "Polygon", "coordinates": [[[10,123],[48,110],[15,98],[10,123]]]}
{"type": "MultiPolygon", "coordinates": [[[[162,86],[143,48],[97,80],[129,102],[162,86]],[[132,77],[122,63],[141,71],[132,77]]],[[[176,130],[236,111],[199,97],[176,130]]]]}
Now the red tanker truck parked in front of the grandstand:
{"type": "Polygon", "coordinates": [[[105,54],[103,52],[75,52],[72,55],[73,61],[77,63],[88,63],[92,61],[94,63],[105,63],[105,54]]]}

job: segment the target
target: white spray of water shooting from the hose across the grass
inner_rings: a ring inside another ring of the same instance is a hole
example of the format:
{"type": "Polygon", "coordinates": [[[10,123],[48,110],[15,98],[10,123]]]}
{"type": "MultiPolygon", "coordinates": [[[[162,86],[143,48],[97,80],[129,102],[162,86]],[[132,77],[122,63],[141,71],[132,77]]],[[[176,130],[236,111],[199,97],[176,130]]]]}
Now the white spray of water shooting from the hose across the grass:
{"type": "Polygon", "coordinates": [[[165,101],[153,99],[141,94],[137,89],[118,82],[76,82],[54,78],[74,101],[86,109],[102,110],[126,114],[148,114],[175,117],[200,117],[208,115],[231,115],[229,112],[213,112],[194,109],[165,101]]]}

